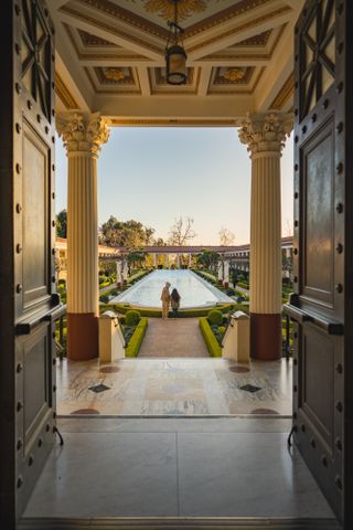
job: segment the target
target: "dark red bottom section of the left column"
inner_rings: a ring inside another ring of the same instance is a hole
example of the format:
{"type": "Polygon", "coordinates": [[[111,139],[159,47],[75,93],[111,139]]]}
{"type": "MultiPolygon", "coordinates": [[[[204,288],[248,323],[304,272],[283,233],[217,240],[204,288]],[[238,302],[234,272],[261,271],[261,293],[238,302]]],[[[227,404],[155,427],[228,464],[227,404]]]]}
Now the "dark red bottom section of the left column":
{"type": "Polygon", "coordinates": [[[88,361],[98,357],[98,317],[94,312],[67,314],[67,359],[88,361]]]}

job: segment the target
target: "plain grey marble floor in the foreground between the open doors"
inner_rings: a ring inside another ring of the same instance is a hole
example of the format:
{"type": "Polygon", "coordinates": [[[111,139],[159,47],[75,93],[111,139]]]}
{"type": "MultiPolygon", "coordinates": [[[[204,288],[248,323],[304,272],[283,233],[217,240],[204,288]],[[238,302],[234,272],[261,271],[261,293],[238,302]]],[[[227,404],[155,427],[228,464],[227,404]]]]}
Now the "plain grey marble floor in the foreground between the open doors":
{"type": "MultiPolygon", "coordinates": [[[[69,417],[58,428],[64,446],[51,453],[23,528],[66,528],[54,523],[64,517],[87,528],[118,528],[109,518],[260,518],[250,528],[314,518],[286,528],[336,528],[301,456],[287,447],[289,420],[69,417]],[[36,518],[47,527],[35,527],[36,518]]],[[[224,520],[228,528],[232,519],[224,520]]]]}

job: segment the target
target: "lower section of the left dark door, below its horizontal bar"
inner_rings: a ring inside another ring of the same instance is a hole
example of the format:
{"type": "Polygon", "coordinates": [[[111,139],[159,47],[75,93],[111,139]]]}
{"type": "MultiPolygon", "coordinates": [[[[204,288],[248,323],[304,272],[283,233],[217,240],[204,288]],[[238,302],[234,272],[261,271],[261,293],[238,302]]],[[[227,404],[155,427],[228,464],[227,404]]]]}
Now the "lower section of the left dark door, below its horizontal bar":
{"type": "Polygon", "coordinates": [[[55,414],[55,348],[50,321],[17,340],[17,365],[23,367],[17,378],[17,484],[18,512],[25,507],[49,453],[53,446],[55,414]]]}

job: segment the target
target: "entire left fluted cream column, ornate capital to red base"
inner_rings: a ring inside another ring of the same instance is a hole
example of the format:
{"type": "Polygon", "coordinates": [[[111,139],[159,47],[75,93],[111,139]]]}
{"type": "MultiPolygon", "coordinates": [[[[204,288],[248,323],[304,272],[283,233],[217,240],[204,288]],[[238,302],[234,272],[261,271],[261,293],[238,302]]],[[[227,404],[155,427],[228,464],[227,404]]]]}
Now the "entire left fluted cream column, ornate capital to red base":
{"type": "Polygon", "coordinates": [[[109,129],[99,114],[65,113],[56,127],[68,158],[67,357],[98,356],[97,158],[109,129]]]}

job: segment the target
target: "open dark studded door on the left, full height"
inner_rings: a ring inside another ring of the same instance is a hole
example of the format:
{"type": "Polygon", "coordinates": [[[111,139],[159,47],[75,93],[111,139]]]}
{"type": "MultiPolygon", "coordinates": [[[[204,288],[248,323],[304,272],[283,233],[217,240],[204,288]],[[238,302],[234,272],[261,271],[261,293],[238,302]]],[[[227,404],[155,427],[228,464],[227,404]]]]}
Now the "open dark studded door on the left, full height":
{"type": "Polygon", "coordinates": [[[42,0],[1,4],[1,528],[14,528],[55,427],[54,29],[42,0]]]}

